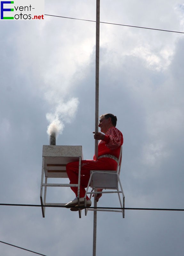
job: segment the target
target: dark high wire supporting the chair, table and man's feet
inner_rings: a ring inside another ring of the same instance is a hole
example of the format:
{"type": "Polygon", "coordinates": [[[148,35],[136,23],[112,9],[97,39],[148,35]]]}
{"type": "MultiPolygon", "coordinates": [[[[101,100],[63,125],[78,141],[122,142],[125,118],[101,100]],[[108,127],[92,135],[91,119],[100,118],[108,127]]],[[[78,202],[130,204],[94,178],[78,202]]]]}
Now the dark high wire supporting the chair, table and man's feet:
{"type": "MultiPolygon", "coordinates": [[[[67,208],[65,205],[41,205],[41,204],[0,204],[0,206],[29,206],[29,207],[58,207],[67,208]]],[[[84,209],[84,206],[81,206],[84,209]]],[[[80,207],[79,207],[80,208],[80,207]]],[[[86,207],[87,208],[87,207],[86,207]]],[[[172,209],[172,208],[133,208],[133,207],[88,207],[89,209],[109,209],[109,210],[145,210],[145,211],[184,211],[184,209],[172,209]]]]}

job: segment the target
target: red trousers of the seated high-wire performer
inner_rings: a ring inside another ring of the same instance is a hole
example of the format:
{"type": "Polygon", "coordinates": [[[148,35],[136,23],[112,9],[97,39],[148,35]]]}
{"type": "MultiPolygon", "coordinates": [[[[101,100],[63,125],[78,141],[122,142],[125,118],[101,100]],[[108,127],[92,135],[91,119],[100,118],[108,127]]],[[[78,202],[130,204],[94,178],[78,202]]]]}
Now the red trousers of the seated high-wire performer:
{"type": "MultiPolygon", "coordinates": [[[[107,171],[116,171],[117,163],[114,159],[108,157],[102,157],[96,161],[94,160],[82,160],[81,161],[81,182],[80,182],[80,197],[85,196],[85,188],[88,185],[88,181],[90,178],[91,170],[107,170],[107,171]]],[[[70,180],[70,184],[78,183],[78,172],[79,172],[79,162],[71,162],[66,166],[68,178],[70,180]]],[[[71,187],[74,193],[77,196],[77,187],[71,187]]],[[[86,196],[88,200],[89,197],[86,196]]]]}

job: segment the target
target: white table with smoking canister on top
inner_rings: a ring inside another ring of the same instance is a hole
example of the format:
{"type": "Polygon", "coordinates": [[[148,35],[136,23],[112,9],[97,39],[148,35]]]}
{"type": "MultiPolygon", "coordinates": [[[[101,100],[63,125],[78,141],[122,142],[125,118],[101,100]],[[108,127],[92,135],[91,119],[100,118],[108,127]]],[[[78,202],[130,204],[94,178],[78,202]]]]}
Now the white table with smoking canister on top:
{"type": "MultiPolygon", "coordinates": [[[[42,216],[45,217],[45,206],[64,206],[65,203],[48,203],[46,201],[47,187],[77,187],[78,188],[78,205],[80,205],[80,170],[81,160],[83,160],[82,146],[56,146],[43,145],[42,160],[42,177],[40,188],[40,201],[42,206],[42,216]],[[53,178],[68,178],[66,165],[70,162],[79,161],[79,178],[77,184],[55,183],[53,178]],[[44,182],[45,176],[45,182],[44,182]],[[52,183],[48,179],[52,178],[52,183]],[[43,193],[44,190],[44,193],[43,193]]],[[[62,198],[61,198],[62,200],[62,198]]],[[[81,211],[79,209],[79,218],[81,211]]]]}

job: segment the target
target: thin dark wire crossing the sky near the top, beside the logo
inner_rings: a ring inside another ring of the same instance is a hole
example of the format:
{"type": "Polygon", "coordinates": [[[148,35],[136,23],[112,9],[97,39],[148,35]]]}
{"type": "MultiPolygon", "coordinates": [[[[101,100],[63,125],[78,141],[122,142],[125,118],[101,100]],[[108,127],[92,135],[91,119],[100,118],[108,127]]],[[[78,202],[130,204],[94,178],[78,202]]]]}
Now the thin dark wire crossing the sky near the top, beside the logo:
{"type": "MultiPolygon", "coordinates": [[[[44,15],[46,15],[46,16],[53,16],[53,17],[59,17],[59,18],[65,18],[65,19],[72,19],[72,20],[84,20],[84,21],[96,22],[95,20],[77,19],[77,18],[64,17],[64,16],[58,16],[58,15],[50,15],[50,14],[44,14],[44,15]]],[[[158,28],[146,28],[146,27],[131,26],[131,25],[124,25],[124,24],[111,23],[111,22],[103,22],[103,21],[100,21],[100,23],[117,25],[117,26],[132,27],[132,28],[144,28],[144,29],[151,29],[151,30],[159,30],[159,31],[165,31],[165,32],[184,34],[184,32],[180,32],[180,31],[172,31],[172,30],[165,30],[165,29],[158,29],[158,28]]]]}

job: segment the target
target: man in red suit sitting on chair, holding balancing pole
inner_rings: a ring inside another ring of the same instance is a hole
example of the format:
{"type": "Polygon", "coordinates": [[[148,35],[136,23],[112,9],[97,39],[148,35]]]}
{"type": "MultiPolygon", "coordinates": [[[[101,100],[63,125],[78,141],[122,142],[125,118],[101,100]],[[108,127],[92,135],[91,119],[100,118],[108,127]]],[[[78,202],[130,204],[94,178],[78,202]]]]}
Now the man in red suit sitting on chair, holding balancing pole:
{"type": "MultiPolygon", "coordinates": [[[[109,170],[116,171],[120,147],[123,144],[123,134],[116,128],[117,117],[113,114],[104,114],[100,116],[99,127],[101,132],[94,133],[94,139],[100,140],[98,144],[98,159],[97,160],[82,160],[81,161],[81,183],[80,183],[80,205],[84,206],[85,188],[88,185],[91,170],[109,170]],[[103,133],[102,133],[103,132],[103,133]]],[[[94,157],[93,157],[94,159],[94,157]]],[[[66,166],[70,184],[78,183],[78,162],[68,163],[66,166]]],[[[65,206],[71,208],[71,211],[78,210],[77,202],[77,187],[71,187],[76,198],[65,206]]],[[[98,189],[101,192],[102,189],[98,189]]],[[[96,200],[102,196],[98,193],[96,200]]],[[[86,196],[86,205],[90,207],[92,204],[88,196],[86,196]]],[[[83,209],[83,208],[81,208],[83,209]]]]}

